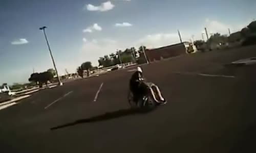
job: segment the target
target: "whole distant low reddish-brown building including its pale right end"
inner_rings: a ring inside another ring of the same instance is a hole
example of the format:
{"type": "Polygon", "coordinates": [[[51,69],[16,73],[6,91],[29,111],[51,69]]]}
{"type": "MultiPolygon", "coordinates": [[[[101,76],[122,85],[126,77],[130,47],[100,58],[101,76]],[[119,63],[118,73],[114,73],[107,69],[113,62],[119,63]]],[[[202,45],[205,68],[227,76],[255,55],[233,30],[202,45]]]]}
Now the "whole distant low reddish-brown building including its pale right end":
{"type": "Polygon", "coordinates": [[[150,62],[195,52],[197,52],[197,48],[190,42],[182,42],[160,48],[147,49],[145,51],[147,59],[150,62]]]}

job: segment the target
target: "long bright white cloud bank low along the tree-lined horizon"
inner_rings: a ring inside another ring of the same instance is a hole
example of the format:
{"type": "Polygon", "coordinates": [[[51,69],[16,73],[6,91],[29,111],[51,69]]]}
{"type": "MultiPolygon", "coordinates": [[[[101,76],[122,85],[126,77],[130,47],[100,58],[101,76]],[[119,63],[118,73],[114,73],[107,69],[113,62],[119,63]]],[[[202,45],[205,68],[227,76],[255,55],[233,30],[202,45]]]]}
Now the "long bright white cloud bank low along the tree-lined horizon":
{"type": "MultiPolygon", "coordinates": [[[[208,19],[198,25],[199,29],[190,31],[180,30],[180,33],[183,41],[191,41],[193,35],[194,40],[202,39],[202,32],[204,32],[205,27],[208,29],[209,33],[219,32],[221,34],[227,34],[228,28],[230,28],[231,32],[236,32],[236,30],[241,30],[241,28],[245,27],[246,25],[248,25],[247,22],[245,22],[245,24],[237,23],[229,25],[221,21],[208,19]]],[[[87,40],[87,42],[83,44],[81,54],[79,55],[79,58],[81,58],[80,61],[84,61],[86,58],[86,60],[91,61],[94,65],[98,65],[97,60],[99,57],[115,53],[117,49],[124,50],[125,48],[130,48],[133,46],[138,48],[141,45],[145,45],[147,48],[156,48],[180,43],[177,30],[169,32],[159,31],[158,33],[152,34],[149,33],[148,35],[141,35],[137,37],[137,39],[130,41],[129,39],[122,41],[122,39],[119,39],[119,37],[115,39],[118,41],[109,38],[87,40]]],[[[206,39],[205,35],[204,39],[206,39]]]]}

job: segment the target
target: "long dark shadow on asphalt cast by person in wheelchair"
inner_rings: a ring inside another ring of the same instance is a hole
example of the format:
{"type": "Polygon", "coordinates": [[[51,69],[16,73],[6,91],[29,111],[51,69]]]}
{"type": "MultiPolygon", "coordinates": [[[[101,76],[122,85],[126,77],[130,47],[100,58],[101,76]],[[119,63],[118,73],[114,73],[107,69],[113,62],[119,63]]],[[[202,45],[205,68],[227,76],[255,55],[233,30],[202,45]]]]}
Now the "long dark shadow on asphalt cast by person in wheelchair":
{"type": "Polygon", "coordinates": [[[70,122],[70,123],[58,125],[58,126],[55,126],[55,127],[51,127],[50,130],[53,131],[53,130],[61,129],[63,127],[74,126],[74,125],[82,124],[82,123],[99,122],[99,121],[115,119],[115,118],[119,118],[119,117],[123,117],[123,116],[127,116],[127,115],[146,114],[146,113],[149,113],[149,112],[152,112],[152,111],[141,111],[141,110],[138,110],[138,109],[118,110],[118,111],[115,111],[115,112],[105,113],[103,115],[94,116],[94,117],[86,118],[86,119],[79,119],[79,120],[76,120],[74,122],[70,122]]]}

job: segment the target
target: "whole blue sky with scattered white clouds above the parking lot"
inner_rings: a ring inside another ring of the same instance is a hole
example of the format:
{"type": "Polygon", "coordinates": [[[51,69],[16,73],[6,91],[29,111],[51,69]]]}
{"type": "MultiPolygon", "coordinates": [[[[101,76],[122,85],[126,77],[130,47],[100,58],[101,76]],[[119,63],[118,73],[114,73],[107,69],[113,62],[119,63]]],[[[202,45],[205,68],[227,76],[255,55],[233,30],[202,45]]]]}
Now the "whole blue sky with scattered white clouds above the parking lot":
{"type": "Polygon", "coordinates": [[[203,28],[227,34],[256,18],[253,0],[1,0],[0,83],[28,82],[30,74],[52,68],[39,27],[48,39],[60,74],[116,49],[159,47],[201,39],[203,28]]]}

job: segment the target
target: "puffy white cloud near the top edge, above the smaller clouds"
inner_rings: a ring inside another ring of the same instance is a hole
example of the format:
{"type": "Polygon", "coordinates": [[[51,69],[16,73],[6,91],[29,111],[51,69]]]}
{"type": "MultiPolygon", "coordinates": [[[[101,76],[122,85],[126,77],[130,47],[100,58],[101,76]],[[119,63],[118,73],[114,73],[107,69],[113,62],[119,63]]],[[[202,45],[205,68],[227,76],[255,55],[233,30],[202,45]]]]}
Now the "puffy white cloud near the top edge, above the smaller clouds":
{"type": "Polygon", "coordinates": [[[115,5],[112,4],[110,1],[101,3],[100,6],[94,6],[92,4],[88,4],[86,6],[88,11],[100,11],[100,12],[105,12],[105,11],[112,10],[114,7],[115,7],[115,5]]]}

